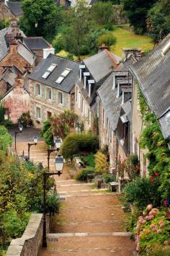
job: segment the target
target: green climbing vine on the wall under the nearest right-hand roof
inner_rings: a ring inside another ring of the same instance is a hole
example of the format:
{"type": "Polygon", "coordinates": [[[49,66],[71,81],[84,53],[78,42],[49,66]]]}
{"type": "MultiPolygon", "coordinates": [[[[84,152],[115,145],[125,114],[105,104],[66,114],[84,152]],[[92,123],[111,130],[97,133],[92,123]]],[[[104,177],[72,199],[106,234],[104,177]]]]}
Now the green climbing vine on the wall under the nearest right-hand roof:
{"type": "Polygon", "coordinates": [[[162,136],[158,120],[149,109],[142,92],[138,88],[138,101],[143,118],[143,131],[140,133],[140,147],[148,149],[148,171],[153,177],[157,173],[160,177],[158,190],[164,199],[170,198],[170,150],[168,141],[162,136]]]}

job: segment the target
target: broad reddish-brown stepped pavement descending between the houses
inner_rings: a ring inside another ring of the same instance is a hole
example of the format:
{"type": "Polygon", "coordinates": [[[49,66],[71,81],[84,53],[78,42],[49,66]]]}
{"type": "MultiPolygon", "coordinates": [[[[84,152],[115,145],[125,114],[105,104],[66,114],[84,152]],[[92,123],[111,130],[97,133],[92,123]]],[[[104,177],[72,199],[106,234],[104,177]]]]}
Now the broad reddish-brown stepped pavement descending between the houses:
{"type": "MultiPolygon", "coordinates": [[[[23,141],[17,143],[18,154],[27,152],[27,142],[23,141]]],[[[39,141],[31,147],[30,159],[47,166],[46,149],[45,143],[39,141]]],[[[55,154],[50,156],[52,171],[55,154]]],[[[40,249],[38,256],[134,255],[135,244],[125,231],[127,219],[119,196],[71,179],[69,169],[65,166],[63,175],[55,176],[58,193],[63,198],[61,211],[51,221],[48,247],[40,249]]]]}

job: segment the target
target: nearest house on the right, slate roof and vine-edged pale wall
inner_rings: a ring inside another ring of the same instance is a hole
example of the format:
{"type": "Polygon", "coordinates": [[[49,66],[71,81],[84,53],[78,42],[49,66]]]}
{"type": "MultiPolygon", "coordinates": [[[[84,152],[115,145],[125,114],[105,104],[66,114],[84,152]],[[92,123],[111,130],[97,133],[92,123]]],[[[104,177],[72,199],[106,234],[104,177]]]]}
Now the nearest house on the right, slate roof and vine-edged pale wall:
{"type": "Polygon", "coordinates": [[[140,159],[141,176],[148,174],[146,150],[138,144],[143,122],[138,102],[138,87],[146,99],[150,110],[155,114],[161,132],[170,140],[170,34],[151,53],[130,66],[133,74],[133,114],[132,114],[132,153],[140,159]]]}

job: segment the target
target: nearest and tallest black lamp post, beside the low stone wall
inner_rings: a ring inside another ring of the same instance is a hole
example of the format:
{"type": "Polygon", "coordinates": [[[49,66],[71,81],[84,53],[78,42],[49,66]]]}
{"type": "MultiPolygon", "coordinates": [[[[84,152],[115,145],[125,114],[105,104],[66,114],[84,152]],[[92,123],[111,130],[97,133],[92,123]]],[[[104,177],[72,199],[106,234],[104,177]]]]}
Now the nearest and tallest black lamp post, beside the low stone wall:
{"type": "Polygon", "coordinates": [[[63,172],[64,159],[63,156],[59,155],[55,157],[55,172],[43,172],[44,182],[43,182],[43,238],[42,238],[42,247],[47,247],[47,237],[46,237],[46,182],[47,177],[50,175],[60,176],[63,172]]]}

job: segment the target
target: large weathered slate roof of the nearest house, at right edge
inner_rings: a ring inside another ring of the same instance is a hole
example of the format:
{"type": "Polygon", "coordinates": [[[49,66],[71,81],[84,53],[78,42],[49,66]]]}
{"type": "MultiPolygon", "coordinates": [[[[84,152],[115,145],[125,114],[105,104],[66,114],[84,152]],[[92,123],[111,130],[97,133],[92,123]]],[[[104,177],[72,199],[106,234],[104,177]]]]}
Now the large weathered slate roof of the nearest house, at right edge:
{"type": "MultiPolygon", "coordinates": [[[[170,34],[151,53],[130,66],[130,71],[137,79],[148,106],[158,120],[170,108],[170,49],[164,56],[161,54],[161,50],[169,42],[170,34]]],[[[163,118],[160,124],[163,134],[169,134],[170,137],[170,120],[165,123],[163,118]],[[166,126],[163,126],[163,123],[166,126]]]]}

